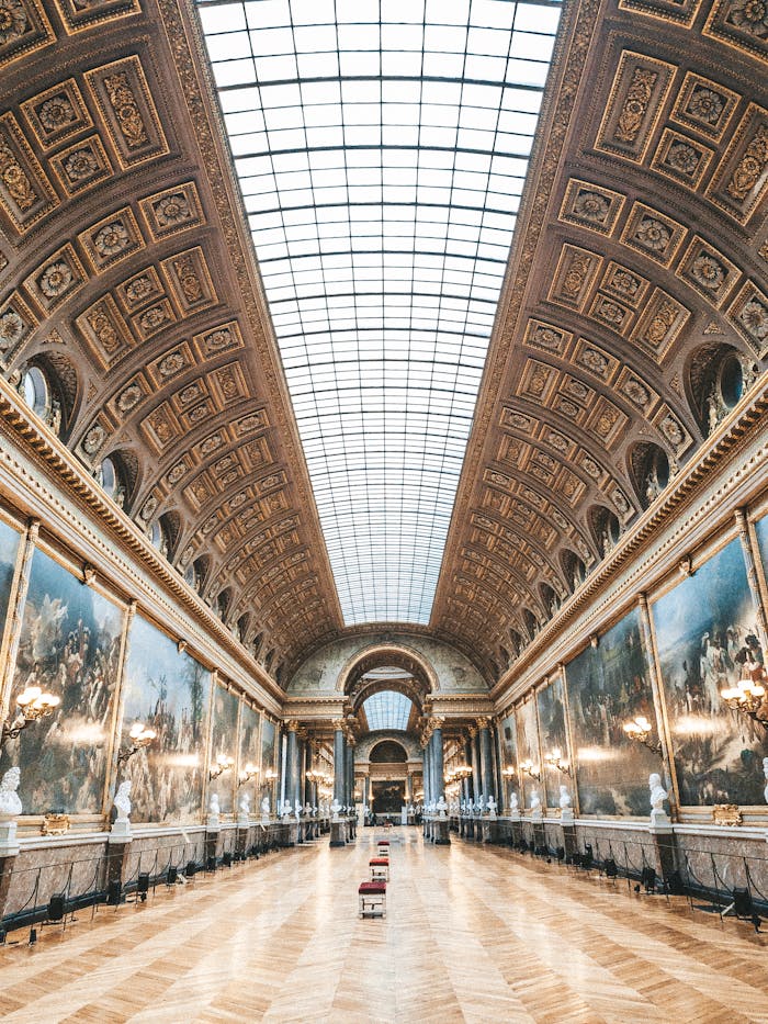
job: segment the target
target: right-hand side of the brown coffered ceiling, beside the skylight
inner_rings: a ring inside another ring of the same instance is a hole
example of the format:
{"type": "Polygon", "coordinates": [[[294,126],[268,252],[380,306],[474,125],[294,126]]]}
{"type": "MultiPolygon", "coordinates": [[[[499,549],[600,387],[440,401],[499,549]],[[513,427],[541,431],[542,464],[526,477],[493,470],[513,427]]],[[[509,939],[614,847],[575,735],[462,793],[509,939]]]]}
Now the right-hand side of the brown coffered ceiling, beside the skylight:
{"type": "Polygon", "coordinates": [[[431,620],[498,672],[768,353],[765,7],[564,21],[431,620]]]}

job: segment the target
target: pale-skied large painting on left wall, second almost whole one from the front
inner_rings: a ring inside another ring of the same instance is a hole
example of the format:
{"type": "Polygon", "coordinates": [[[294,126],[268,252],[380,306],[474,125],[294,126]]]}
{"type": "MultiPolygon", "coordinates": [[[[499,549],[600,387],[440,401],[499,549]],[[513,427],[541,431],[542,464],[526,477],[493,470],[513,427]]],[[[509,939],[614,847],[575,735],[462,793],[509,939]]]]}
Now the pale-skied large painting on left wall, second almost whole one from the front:
{"type": "Polygon", "coordinates": [[[133,783],[132,820],[199,820],[211,673],[137,616],[131,627],[124,689],[123,744],[128,745],[128,732],[137,721],[157,732],[123,773],[133,783]]]}

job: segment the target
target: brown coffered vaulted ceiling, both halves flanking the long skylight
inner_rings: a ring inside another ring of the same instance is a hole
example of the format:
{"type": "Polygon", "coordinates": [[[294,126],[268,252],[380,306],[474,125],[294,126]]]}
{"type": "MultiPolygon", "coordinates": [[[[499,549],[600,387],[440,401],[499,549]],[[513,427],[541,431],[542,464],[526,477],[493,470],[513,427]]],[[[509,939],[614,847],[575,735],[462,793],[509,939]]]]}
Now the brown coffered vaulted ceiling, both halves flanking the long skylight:
{"type": "MultiPolygon", "coordinates": [[[[488,675],[765,365],[767,50],[750,0],[565,7],[429,627],[488,675]]],[[[342,619],[203,53],[0,0],[0,371],[275,671],[342,619]]]]}

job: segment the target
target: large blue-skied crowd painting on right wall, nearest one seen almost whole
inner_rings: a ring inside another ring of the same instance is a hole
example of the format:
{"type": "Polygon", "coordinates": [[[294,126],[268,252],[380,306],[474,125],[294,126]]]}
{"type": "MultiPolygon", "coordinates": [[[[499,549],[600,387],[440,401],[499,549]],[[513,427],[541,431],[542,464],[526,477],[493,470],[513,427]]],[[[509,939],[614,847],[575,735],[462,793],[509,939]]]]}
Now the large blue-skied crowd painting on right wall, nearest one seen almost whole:
{"type": "Polygon", "coordinates": [[[680,803],[763,804],[765,730],[720,696],[764,661],[741,542],[660,597],[653,618],[680,803]]]}

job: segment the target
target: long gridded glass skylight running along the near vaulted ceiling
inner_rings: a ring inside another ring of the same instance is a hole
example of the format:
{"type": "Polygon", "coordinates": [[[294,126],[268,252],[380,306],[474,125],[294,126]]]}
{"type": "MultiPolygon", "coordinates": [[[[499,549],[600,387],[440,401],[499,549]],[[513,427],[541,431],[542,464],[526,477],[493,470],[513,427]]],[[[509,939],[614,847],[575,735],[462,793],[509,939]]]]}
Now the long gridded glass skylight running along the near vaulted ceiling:
{"type": "Polygon", "coordinates": [[[345,620],[426,623],[560,4],[199,9],[345,620]]]}

